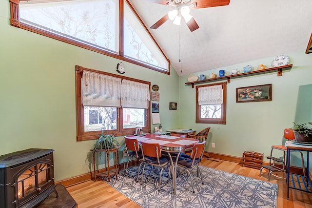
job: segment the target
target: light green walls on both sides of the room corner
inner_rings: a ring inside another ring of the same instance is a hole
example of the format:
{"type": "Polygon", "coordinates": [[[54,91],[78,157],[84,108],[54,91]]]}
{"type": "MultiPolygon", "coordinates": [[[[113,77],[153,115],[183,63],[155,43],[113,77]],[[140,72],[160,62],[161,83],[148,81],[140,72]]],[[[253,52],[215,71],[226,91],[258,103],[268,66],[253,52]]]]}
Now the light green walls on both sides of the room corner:
{"type": "MultiPolygon", "coordinates": [[[[0,1],[0,155],[50,148],[55,150],[56,181],[84,174],[90,170],[89,150],[94,141],[76,141],[75,65],[117,73],[120,60],[10,26],[9,18],[9,2],[0,1]]],[[[269,73],[231,80],[227,125],[210,125],[206,150],[238,157],[244,150],[268,155],[271,145],[282,143],[283,129],[292,126],[301,102],[297,100],[299,87],[312,84],[312,55],[304,54],[304,49],[287,55],[293,67],[281,77],[269,73]],[[267,83],[273,85],[272,102],[236,104],[236,87],[267,83]]],[[[268,57],[224,69],[270,66],[272,60],[268,57]]],[[[169,76],[128,62],[124,65],[124,76],[159,86],[164,130],[207,126],[195,124],[195,88],[184,84],[189,75],[178,77],[171,69],[169,76]],[[169,102],[177,102],[177,110],[169,110],[169,102]]],[[[218,70],[213,71],[218,74],[218,70]]]]}

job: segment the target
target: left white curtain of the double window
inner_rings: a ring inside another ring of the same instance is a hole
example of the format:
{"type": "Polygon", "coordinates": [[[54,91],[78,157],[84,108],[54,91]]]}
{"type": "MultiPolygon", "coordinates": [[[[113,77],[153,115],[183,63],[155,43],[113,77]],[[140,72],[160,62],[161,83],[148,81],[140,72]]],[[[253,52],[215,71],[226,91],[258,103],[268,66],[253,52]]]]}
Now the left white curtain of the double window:
{"type": "Polygon", "coordinates": [[[90,71],[82,75],[83,106],[120,107],[121,79],[90,71]]]}

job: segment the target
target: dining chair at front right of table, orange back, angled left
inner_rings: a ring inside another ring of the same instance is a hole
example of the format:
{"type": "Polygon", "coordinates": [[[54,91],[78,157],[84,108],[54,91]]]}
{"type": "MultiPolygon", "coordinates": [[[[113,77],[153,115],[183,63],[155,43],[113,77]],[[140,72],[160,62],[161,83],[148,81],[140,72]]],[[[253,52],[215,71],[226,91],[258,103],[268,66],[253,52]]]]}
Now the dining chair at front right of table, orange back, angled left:
{"type": "MultiPolygon", "coordinates": [[[[199,143],[196,143],[193,148],[192,148],[192,152],[191,155],[188,154],[182,154],[179,156],[178,160],[177,160],[177,166],[182,167],[183,169],[185,169],[187,171],[187,173],[189,174],[190,178],[191,178],[191,184],[192,184],[192,189],[193,189],[193,193],[195,193],[194,190],[194,181],[192,178],[192,174],[189,170],[193,169],[194,167],[197,167],[197,177],[199,177],[200,173],[200,178],[201,178],[201,183],[204,184],[203,181],[203,174],[201,172],[199,163],[203,157],[204,154],[204,150],[205,150],[205,145],[206,145],[206,141],[202,141],[199,143]]],[[[173,161],[176,161],[176,158],[173,157],[173,161]]]]}

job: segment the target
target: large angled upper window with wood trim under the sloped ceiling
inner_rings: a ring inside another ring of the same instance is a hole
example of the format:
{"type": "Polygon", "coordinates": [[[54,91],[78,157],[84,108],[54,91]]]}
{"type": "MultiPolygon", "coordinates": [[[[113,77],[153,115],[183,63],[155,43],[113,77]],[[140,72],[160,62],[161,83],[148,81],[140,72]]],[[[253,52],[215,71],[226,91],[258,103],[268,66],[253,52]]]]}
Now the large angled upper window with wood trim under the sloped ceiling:
{"type": "Polygon", "coordinates": [[[170,74],[128,0],[10,0],[11,25],[170,74]]]}

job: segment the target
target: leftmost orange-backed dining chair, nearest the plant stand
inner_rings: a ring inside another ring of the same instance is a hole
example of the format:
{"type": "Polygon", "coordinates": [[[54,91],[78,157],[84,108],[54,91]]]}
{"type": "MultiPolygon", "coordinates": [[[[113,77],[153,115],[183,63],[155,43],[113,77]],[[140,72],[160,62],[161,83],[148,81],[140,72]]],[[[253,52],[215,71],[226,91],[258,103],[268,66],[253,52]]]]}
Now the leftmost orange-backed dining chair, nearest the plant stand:
{"type": "MultiPolygon", "coordinates": [[[[129,138],[126,136],[124,138],[125,138],[125,148],[123,149],[122,159],[123,159],[123,169],[125,170],[125,175],[127,175],[129,162],[134,160],[137,160],[137,162],[142,162],[143,156],[136,138],[129,138]],[[125,167],[125,155],[129,157],[126,167],[125,167]]],[[[137,171],[137,174],[139,174],[139,169],[137,171]]]]}

